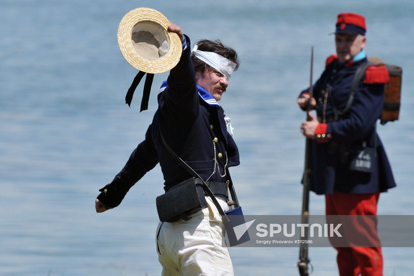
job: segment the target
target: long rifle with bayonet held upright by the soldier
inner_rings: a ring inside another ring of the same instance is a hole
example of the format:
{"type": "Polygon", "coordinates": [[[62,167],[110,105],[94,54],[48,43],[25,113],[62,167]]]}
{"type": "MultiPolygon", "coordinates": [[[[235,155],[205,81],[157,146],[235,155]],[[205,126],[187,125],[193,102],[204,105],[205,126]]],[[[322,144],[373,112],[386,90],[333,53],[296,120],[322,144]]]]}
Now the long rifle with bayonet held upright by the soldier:
{"type": "MultiPolygon", "coordinates": [[[[312,83],[312,72],[313,72],[313,46],[310,53],[310,87],[309,87],[309,103],[307,111],[310,111],[310,100],[313,97],[313,83],[312,83]]],[[[308,112],[306,112],[308,114],[308,112]]],[[[306,121],[311,121],[309,115],[307,115],[306,121]]],[[[308,224],[309,222],[309,185],[310,185],[310,143],[311,140],[306,138],[306,148],[305,148],[305,169],[303,171],[303,196],[302,196],[302,214],[301,214],[301,223],[308,224]]],[[[309,228],[306,228],[304,240],[308,240],[309,237],[309,228]]],[[[298,261],[299,274],[301,276],[308,276],[313,272],[313,266],[310,264],[310,259],[308,258],[308,244],[301,243],[299,250],[299,261],[298,261]],[[310,266],[310,272],[309,272],[310,266]]]]}

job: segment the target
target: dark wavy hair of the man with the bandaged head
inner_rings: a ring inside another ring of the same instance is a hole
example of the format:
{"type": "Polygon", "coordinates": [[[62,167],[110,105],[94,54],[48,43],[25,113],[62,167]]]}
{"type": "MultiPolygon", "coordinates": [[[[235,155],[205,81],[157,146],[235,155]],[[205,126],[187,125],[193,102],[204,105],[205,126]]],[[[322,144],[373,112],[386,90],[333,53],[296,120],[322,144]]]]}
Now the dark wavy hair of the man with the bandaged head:
{"type": "MultiPolygon", "coordinates": [[[[238,69],[238,66],[240,65],[240,61],[237,58],[237,53],[232,48],[224,46],[220,40],[207,40],[207,39],[201,39],[197,43],[198,50],[205,51],[205,52],[214,52],[219,54],[220,56],[223,56],[230,61],[233,61],[236,63],[236,68],[234,68],[234,71],[238,69]]],[[[193,61],[194,70],[195,72],[200,71],[204,72],[206,69],[211,70],[213,69],[210,65],[205,63],[204,61],[200,60],[196,56],[191,56],[191,60],[193,61]]]]}

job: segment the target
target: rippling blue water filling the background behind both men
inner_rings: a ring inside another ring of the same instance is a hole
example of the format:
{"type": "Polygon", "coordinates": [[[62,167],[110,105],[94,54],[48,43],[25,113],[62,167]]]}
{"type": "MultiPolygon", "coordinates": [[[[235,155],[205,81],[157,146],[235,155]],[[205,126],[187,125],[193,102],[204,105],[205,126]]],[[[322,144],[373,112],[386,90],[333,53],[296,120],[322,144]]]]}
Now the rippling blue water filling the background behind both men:
{"type": "MultiPolygon", "coordinates": [[[[52,1],[0,2],[0,275],[159,275],[155,197],[159,166],[114,210],[96,214],[110,182],[144,138],[156,109],[125,93],[137,71],[117,42],[120,19],[152,7],[192,41],[221,39],[238,51],[220,104],[231,117],[241,165],[231,169],[246,214],[299,214],[304,119],[296,106],[334,53],[339,12],[367,19],[368,56],[404,68],[400,120],[378,126],[398,184],[378,213],[414,214],[414,24],[412,1],[52,1]]],[[[137,91],[140,91],[138,88],[137,91]]],[[[310,213],[323,214],[322,196],[310,213]]],[[[297,248],[231,248],[236,275],[297,275],[297,248]]],[[[412,248],[384,248],[384,275],[412,275],[412,248]]],[[[337,274],[335,250],[311,248],[314,275],[337,274]]]]}

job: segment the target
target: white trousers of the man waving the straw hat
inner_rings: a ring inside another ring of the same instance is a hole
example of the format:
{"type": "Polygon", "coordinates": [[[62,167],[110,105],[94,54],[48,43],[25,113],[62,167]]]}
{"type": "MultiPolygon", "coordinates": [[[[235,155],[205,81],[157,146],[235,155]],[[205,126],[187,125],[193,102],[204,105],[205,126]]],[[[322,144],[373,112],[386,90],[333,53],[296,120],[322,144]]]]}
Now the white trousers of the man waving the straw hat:
{"type": "MultiPolygon", "coordinates": [[[[158,224],[156,249],[162,276],[234,275],[229,250],[221,246],[220,214],[212,200],[207,196],[206,200],[208,208],[190,215],[190,220],[158,224]]],[[[229,209],[224,199],[217,197],[217,201],[224,211],[229,209]]]]}

